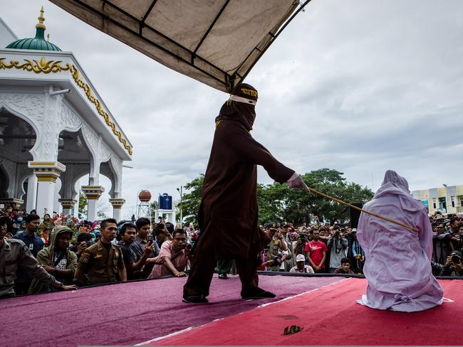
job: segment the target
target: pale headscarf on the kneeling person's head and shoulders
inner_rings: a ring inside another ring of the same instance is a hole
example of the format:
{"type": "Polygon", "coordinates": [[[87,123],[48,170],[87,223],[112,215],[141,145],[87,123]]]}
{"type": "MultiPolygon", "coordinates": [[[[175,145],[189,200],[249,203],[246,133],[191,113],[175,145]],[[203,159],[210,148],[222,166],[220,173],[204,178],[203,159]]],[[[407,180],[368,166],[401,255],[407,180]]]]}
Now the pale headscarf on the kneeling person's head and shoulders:
{"type": "Polygon", "coordinates": [[[381,196],[387,194],[398,196],[400,205],[404,210],[416,212],[426,208],[426,206],[421,201],[413,198],[410,195],[410,189],[408,188],[407,180],[393,170],[386,171],[383,183],[381,184],[378,191],[376,191],[374,198],[380,198],[381,196]]]}

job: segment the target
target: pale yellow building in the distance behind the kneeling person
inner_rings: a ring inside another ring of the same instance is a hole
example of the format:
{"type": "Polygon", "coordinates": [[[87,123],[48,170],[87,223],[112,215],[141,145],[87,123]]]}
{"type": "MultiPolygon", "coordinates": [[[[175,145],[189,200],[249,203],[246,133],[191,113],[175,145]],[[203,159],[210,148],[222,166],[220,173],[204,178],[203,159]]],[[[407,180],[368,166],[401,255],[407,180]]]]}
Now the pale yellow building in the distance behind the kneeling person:
{"type": "Polygon", "coordinates": [[[414,198],[421,200],[426,205],[430,215],[436,211],[445,214],[463,214],[463,185],[422,189],[421,191],[412,191],[412,194],[414,198]]]}

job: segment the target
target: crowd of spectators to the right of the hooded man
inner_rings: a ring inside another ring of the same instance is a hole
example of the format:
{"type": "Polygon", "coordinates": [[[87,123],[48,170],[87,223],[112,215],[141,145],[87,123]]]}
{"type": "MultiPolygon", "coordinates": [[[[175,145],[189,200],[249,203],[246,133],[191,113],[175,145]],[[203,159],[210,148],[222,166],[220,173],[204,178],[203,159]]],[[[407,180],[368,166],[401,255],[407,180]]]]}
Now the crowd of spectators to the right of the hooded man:
{"type": "MultiPolygon", "coordinates": [[[[432,270],[436,276],[463,276],[463,218],[436,213],[433,230],[432,270]]],[[[262,253],[260,269],[267,271],[363,274],[365,252],[357,230],[348,225],[266,224],[274,233],[262,253]]],[[[393,265],[400,266],[400,264],[393,265]]]]}

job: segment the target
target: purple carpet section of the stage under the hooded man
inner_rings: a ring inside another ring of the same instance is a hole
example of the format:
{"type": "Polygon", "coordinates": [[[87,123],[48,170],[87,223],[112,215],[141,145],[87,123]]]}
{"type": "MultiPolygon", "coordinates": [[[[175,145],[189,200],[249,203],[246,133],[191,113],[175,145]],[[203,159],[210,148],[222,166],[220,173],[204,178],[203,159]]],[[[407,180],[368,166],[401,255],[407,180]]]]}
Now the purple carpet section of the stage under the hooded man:
{"type": "Polygon", "coordinates": [[[0,300],[0,347],[133,345],[338,282],[340,277],[260,276],[275,299],[241,299],[238,276],[214,276],[210,304],[182,303],[186,278],[111,284],[0,300]]]}

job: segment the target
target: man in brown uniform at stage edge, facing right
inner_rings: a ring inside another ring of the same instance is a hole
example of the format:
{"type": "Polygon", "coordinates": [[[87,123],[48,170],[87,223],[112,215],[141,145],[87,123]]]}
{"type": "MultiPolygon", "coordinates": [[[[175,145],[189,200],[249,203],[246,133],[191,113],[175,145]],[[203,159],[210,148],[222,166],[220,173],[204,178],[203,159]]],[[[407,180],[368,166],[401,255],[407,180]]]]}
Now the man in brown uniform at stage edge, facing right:
{"type": "Polygon", "coordinates": [[[80,284],[102,284],[127,281],[123,254],[115,239],[118,227],[113,218],[101,222],[100,240],[82,252],[74,274],[80,284]]]}

